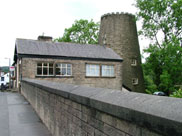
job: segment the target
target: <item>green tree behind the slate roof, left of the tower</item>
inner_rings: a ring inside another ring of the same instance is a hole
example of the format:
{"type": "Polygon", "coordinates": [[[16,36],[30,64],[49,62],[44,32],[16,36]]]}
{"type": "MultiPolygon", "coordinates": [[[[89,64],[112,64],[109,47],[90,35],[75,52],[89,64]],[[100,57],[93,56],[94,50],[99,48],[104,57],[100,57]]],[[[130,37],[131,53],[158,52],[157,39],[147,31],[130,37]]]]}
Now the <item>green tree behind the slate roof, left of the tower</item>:
{"type": "Polygon", "coordinates": [[[99,23],[93,20],[76,20],[72,27],[65,29],[63,37],[55,39],[58,42],[73,42],[97,44],[99,35],[99,23]]]}

